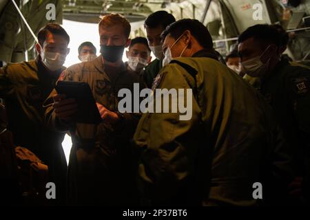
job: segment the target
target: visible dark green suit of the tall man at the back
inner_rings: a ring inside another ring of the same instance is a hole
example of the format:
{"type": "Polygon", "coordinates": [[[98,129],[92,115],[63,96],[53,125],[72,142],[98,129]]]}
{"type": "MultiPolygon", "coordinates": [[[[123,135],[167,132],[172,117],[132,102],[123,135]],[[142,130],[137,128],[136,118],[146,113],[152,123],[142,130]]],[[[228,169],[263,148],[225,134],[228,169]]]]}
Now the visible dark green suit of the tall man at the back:
{"type": "Polygon", "coordinates": [[[143,71],[143,80],[147,88],[152,88],[154,78],[161,71],[161,68],[163,68],[163,61],[157,58],[145,67],[143,71]]]}

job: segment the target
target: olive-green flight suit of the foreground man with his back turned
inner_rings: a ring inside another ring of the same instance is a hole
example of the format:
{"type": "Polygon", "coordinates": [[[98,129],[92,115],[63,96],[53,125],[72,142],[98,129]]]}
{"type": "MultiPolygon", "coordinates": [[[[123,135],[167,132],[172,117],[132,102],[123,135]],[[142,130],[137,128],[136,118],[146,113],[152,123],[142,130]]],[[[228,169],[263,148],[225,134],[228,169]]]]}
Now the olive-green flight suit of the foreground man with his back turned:
{"type": "Polygon", "coordinates": [[[192,106],[185,100],[192,119],[179,120],[171,106],[141,117],[134,142],[145,203],[250,206],[260,200],[252,197],[255,182],[267,191],[271,181],[292,179],[269,105],[216,54],[175,58],[154,87],[192,89],[192,106]]]}

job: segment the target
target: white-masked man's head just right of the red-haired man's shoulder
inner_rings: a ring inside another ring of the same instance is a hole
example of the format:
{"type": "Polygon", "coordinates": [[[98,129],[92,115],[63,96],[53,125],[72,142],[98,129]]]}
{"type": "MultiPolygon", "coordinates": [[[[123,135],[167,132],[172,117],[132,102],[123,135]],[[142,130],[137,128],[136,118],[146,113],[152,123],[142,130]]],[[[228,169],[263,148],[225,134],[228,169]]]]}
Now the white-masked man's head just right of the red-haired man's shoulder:
{"type": "Polygon", "coordinates": [[[138,36],[132,39],[129,50],[126,52],[128,58],[127,67],[136,72],[138,75],[141,74],[143,68],[151,61],[152,56],[150,56],[151,50],[147,44],[147,39],[138,36]]]}

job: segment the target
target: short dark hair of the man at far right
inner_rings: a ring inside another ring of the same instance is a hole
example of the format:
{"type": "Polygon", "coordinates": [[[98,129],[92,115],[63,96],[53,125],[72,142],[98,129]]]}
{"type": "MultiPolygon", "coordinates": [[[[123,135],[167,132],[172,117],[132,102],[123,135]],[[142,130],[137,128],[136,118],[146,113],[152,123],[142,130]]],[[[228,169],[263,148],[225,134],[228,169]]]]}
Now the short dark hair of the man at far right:
{"type": "Polygon", "coordinates": [[[266,46],[274,44],[277,47],[280,46],[280,32],[272,25],[259,24],[254,25],[240,34],[238,38],[238,44],[246,41],[247,39],[254,38],[261,45],[266,46]]]}

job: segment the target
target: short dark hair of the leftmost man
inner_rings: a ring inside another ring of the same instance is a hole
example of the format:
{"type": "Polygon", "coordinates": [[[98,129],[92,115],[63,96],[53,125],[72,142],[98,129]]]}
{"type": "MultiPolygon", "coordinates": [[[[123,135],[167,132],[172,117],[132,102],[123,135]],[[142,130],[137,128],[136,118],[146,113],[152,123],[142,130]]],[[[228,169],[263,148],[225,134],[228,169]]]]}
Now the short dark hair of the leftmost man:
{"type": "Polygon", "coordinates": [[[38,32],[38,41],[42,47],[44,41],[46,40],[46,36],[48,36],[49,32],[52,34],[58,34],[64,36],[65,39],[68,41],[68,44],[70,43],[70,36],[63,28],[61,28],[61,25],[59,25],[58,23],[48,23],[38,32]]]}

